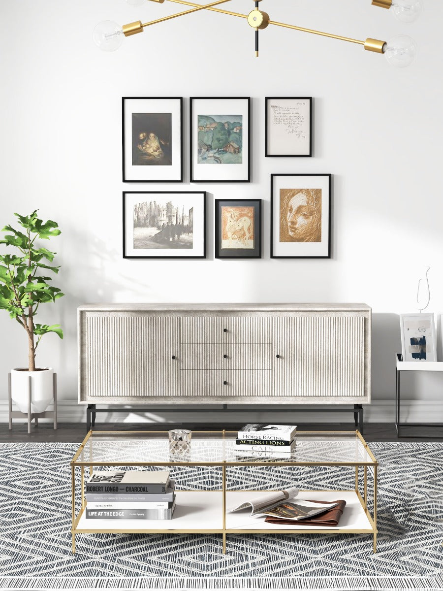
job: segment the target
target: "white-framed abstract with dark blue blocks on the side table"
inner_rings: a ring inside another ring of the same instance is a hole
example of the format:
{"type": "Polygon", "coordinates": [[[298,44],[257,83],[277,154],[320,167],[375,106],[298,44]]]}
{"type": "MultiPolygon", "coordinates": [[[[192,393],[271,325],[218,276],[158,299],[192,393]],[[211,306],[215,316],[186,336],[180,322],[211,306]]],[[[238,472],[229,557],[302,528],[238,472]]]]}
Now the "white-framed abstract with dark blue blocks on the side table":
{"type": "Polygon", "coordinates": [[[400,314],[403,361],[437,361],[434,314],[400,314]]]}

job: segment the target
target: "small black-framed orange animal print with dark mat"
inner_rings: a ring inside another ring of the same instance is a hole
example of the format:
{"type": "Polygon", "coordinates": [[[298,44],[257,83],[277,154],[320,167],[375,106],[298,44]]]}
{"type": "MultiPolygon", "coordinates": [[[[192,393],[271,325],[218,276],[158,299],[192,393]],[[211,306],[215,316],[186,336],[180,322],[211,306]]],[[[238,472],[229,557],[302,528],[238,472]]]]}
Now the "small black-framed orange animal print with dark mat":
{"type": "Polygon", "coordinates": [[[216,258],[262,258],[262,200],[216,199],[216,258]]]}

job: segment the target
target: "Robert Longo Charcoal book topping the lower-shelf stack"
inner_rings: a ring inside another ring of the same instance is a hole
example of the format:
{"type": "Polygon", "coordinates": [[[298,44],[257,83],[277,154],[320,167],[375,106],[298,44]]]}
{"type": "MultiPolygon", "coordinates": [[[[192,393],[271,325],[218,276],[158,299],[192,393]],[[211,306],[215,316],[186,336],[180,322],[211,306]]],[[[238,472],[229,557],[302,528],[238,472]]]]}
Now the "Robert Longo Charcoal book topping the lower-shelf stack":
{"type": "Polygon", "coordinates": [[[170,484],[166,470],[105,470],[93,472],[86,483],[86,493],[159,494],[170,484]]]}

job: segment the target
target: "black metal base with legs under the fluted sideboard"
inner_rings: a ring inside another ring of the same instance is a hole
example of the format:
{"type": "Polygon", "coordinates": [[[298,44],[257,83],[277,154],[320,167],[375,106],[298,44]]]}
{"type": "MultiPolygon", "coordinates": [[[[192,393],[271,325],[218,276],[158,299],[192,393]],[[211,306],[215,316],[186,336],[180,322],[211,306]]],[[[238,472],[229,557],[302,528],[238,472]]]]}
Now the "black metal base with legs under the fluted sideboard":
{"type": "MultiPolygon", "coordinates": [[[[269,406],[253,406],[249,408],[236,408],[235,406],[228,407],[227,404],[222,405],[214,405],[214,407],[198,407],[198,406],[191,406],[191,407],[160,407],[153,405],[151,407],[148,406],[136,406],[131,408],[122,408],[122,407],[107,407],[107,408],[97,408],[96,404],[88,404],[86,408],[86,431],[89,431],[91,425],[95,427],[95,418],[96,413],[130,413],[131,411],[137,411],[138,413],[152,413],[152,412],[160,412],[160,413],[177,413],[178,411],[192,411],[193,413],[207,413],[210,411],[235,411],[236,413],[251,413],[255,411],[266,411],[267,413],[278,413],[282,410],[285,411],[292,411],[295,415],[298,413],[313,413],[313,412],[328,412],[328,413],[354,413],[354,425],[358,427],[360,433],[363,435],[363,407],[361,404],[354,404],[353,407],[305,407],[305,408],[298,408],[294,406],[283,405],[278,408],[269,408],[269,406]]],[[[287,424],[291,424],[289,421],[287,424]]],[[[169,424],[168,424],[169,426],[169,424]]],[[[173,425],[171,424],[171,427],[173,425]]]]}

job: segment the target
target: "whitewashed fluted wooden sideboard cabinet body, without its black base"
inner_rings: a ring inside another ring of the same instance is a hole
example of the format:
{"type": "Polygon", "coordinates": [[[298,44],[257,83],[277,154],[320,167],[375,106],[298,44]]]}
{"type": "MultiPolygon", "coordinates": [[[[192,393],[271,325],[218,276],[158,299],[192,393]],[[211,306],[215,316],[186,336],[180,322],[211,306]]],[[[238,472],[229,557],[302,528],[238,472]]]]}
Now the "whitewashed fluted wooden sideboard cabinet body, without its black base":
{"type": "Polygon", "coordinates": [[[367,404],[366,304],[84,304],[80,404],[367,404]]]}

